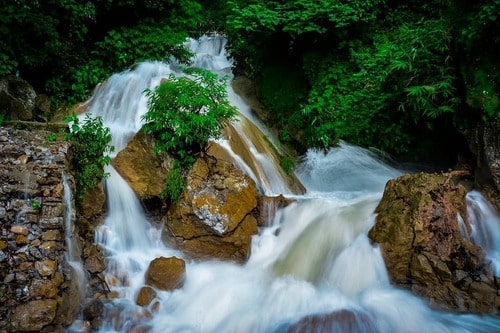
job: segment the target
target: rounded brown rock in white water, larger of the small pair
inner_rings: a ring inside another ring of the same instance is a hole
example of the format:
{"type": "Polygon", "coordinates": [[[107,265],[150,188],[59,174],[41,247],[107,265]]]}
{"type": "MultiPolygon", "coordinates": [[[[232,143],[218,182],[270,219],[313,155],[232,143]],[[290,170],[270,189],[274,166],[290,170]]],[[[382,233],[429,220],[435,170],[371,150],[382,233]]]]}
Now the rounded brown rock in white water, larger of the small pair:
{"type": "Polygon", "coordinates": [[[186,263],[177,257],[154,259],[146,272],[146,283],[160,290],[181,288],[186,276],[186,263]]]}

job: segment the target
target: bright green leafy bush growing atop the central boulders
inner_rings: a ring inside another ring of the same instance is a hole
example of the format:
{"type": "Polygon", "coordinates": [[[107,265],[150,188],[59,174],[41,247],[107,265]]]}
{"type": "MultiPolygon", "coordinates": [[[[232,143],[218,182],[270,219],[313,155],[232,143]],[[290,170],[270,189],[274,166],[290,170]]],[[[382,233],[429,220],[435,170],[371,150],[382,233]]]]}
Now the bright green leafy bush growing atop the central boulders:
{"type": "Polygon", "coordinates": [[[193,154],[236,117],[225,80],[206,70],[187,72],[189,77],[172,74],[156,89],[146,90],[149,110],[143,117],[143,130],[156,138],[155,152],[172,153],[182,165],[190,165],[193,154]]]}

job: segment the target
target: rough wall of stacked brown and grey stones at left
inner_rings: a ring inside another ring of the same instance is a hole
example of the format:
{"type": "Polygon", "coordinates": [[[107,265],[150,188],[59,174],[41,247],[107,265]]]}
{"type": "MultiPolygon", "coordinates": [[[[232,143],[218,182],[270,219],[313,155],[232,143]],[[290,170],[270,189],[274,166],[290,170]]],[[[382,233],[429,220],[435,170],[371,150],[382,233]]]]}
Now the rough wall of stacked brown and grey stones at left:
{"type": "Polygon", "coordinates": [[[64,260],[69,146],[54,135],[0,127],[0,332],[63,332],[78,312],[64,260]]]}

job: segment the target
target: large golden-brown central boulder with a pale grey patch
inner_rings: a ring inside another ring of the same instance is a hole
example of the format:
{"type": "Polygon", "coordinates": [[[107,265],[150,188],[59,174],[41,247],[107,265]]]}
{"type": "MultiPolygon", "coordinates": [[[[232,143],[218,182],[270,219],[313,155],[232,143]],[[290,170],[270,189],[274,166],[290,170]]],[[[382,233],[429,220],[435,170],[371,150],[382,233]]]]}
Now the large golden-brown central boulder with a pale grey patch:
{"type": "Polygon", "coordinates": [[[203,156],[194,163],[178,203],[165,223],[165,238],[194,259],[239,263],[257,233],[255,182],[229,162],[203,156]]]}

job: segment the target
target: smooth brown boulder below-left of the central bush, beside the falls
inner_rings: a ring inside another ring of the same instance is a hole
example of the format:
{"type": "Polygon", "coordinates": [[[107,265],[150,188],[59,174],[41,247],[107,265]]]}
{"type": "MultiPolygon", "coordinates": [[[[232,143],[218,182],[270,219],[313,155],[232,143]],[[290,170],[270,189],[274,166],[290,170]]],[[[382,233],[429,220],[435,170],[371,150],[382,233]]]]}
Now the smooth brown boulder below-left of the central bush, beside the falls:
{"type": "Polygon", "coordinates": [[[168,154],[153,154],[153,146],[152,137],[139,132],[113,160],[116,171],[141,199],[162,194],[173,165],[168,154]]]}

